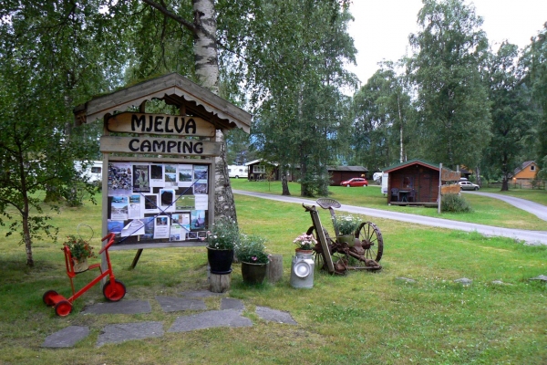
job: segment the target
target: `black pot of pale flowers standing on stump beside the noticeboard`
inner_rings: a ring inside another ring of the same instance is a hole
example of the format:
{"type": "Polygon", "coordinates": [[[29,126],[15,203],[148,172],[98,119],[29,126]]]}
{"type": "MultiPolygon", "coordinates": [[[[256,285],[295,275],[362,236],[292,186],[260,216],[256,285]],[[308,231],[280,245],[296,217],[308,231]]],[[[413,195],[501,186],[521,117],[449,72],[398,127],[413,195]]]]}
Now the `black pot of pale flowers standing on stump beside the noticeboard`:
{"type": "Polygon", "coordinates": [[[212,274],[232,272],[233,249],[239,243],[237,224],[229,219],[219,219],[207,232],[207,259],[212,274]]]}

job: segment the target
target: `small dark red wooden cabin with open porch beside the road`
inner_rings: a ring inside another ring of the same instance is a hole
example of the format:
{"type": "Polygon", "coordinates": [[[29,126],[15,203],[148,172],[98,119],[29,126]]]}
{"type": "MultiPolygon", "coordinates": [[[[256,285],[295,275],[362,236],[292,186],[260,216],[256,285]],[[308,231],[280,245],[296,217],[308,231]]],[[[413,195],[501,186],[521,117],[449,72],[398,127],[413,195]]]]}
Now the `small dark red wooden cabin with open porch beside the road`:
{"type": "Polygon", "coordinates": [[[387,173],[387,203],[437,206],[439,165],[414,159],[383,169],[387,173]]]}

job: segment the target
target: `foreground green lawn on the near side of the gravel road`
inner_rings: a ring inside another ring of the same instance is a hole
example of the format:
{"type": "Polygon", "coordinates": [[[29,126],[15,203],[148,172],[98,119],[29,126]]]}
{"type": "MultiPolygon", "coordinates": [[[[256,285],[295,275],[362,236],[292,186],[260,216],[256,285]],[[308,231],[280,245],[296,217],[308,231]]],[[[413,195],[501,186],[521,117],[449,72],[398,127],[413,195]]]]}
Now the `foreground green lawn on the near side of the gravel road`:
{"type": "MultiPolygon", "coordinates": [[[[235,184],[234,184],[235,185],[235,184]]],[[[258,185],[255,185],[258,186],[258,185]]],[[[357,189],[357,188],[355,188],[357,189]]],[[[349,198],[355,189],[335,190],[349,198]]],[[[365,192],[359,199],[366,201],[365,192]]],[[[293,192],[295,193],[295,191],[293,192]]],[[[547,359],[547,287],[530,278],[547,275],[547,247],[524,246],[506,238],[487,238],[446,229],[383,219],[374,222],[384,236],[383,269],[347,276],[315,273],[312,289],[290,286],[292,241],[311,225],[302,206],[236,195],[244,232],[268,238],[268,251],[284,257],[284,277],[275,284],[248,287],[234,265],[230,297],[243,300],[252,328],[212,328],[165,333],[96,348],[104,326],[161,321],[167,330],[178,316],[164,313],[155,296],[177,296],[208,287],[203,247],[145,250],[134,270],[135,251],[111,253],[116,276],[128,288],[124,300],[150,300],[152,312],[139,315],[82,315],[86,305],[103,302],[93,287],[58,318],[42,302],[46,290],[68,296],[69,281],[60,244],[36,241],[36,267],[25,266],[25,249],[0,234],[0,363],[5,364],[544,364],[547,359]],[[401,277],[416,280],[408,283],[401,277]],[[468,277],[469,287],[454,280],[468,277]],[[493,284],[501,280],[505,284],[493,284]],[[296,326],[256,317],[254,308],[285,310],[296,326]],[[88,326],[90,335],[72,349],[43,349],[46,337],[67,326],[88,326]]],[[[368,205],[367,205],[368,206],[368,205]]],[[[322,220],[328,222],[325,211],[322,220]]],[[[96,232],[100,208],[65,208],[54,216],[61,236],[78,223],[96,232]]],[[[94,244],[99,245],[98,238],[94,244]]],[[[77,276],[77,287],[92,273],[77,276]]],[[[220,308],[217,297],[208,309],[220,308]]]]}

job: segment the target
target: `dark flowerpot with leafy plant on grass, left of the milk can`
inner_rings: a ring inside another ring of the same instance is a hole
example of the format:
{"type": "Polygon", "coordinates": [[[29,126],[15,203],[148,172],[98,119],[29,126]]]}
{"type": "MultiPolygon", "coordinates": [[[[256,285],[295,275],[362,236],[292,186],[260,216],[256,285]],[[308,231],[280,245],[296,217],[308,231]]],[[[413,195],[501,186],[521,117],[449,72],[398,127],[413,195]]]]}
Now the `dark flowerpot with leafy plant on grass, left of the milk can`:
{"type": "Polygon", "coordinates": [[[270,261],[265,253],[265,242],[260,235],[241,235],[240,243],[235,246],[235,256],[242,263],[243,282],[262,284],[270,261]]]}

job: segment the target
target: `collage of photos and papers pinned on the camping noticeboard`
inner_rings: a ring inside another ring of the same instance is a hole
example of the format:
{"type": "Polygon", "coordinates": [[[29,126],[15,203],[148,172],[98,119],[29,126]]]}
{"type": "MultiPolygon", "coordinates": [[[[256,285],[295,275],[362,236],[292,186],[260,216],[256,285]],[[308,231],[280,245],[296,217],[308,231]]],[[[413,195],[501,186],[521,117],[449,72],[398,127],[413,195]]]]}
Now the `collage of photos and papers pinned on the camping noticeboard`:
{"type": "Polygon", "coordinates": [[[108,233],[124,243],[206,238],[209,166],[109,162],[108,233]]]}

